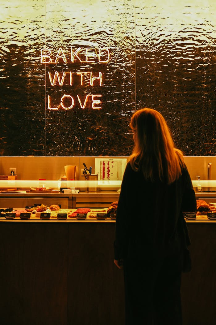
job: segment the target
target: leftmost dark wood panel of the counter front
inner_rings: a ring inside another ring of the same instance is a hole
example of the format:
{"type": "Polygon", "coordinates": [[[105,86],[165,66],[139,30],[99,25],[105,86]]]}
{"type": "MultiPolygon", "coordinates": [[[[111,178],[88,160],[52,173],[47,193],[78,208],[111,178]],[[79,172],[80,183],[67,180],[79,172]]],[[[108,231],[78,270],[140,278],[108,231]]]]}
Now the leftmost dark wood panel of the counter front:
{"type": "Polygon", "coordinates": [[[0,225],[1,324],[67,324],[67,229],[42,223],[0,225]]]}

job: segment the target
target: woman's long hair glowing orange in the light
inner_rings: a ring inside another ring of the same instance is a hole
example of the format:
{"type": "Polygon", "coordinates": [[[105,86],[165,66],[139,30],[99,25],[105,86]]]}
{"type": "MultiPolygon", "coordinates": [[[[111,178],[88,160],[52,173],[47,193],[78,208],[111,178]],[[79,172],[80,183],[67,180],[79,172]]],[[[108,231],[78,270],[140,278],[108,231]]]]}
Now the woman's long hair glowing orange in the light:
{"type": "Polygon", "coordinates": [[[163,116],[156,110],[137,110],[130,123],[135,134],[135,146],[130,156],[134,171],[142,170],[147,180],[160,179],[171,184],[181,175],[182,151],[174,148],[170,130],[163,116]]]}

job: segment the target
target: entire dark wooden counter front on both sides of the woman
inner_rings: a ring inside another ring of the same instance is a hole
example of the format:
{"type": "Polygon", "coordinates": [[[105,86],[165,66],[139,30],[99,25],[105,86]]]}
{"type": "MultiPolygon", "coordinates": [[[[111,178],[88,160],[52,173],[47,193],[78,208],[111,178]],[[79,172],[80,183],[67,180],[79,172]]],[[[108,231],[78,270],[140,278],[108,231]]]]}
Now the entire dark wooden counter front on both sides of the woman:
{"type": "MultiPolygon", "coordinates": [[[[192,271],[182,276],[184,325],[215,324],[216,222],[188,222],[192,271]]],[[[115,221],[0,219],[4,325],[124,325],[115,221]]]]}

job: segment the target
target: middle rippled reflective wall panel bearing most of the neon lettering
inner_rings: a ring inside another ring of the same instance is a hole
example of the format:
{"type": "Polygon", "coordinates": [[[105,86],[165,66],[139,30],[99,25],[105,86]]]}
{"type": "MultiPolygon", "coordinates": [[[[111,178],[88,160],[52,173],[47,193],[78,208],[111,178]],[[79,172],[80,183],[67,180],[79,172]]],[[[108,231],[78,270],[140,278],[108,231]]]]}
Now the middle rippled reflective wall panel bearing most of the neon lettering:
{"type": "Polygon", "coordinates": [[[54,0],[46,17],[47,155],[128,155],[134,1],[54,0]]]}

